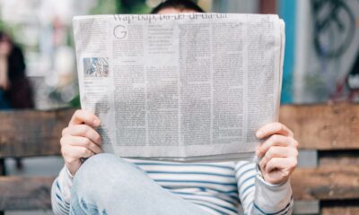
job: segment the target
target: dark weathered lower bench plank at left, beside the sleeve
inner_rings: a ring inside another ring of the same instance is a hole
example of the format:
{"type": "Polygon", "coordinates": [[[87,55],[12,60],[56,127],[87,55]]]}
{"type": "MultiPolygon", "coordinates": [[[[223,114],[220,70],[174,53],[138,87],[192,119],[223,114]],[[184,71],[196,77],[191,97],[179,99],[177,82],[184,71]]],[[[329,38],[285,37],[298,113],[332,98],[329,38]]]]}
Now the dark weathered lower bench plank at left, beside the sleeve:
{"type": "Polygon", "coordinates": [[[51,209],[54,177],[0,176],[0,211],[51,209]]]}

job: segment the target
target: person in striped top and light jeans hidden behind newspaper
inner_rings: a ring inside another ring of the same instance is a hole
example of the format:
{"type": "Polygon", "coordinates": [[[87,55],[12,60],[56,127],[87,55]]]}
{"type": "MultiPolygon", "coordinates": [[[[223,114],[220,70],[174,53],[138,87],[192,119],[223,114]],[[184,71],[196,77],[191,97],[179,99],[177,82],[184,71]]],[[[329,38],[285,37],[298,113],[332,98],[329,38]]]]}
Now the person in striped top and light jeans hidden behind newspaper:
{"type": "MultiPolygon", "coordinates": [[[[188,0],[168,0],[153,13],[202,12],[188,0]]],[[[298,143],[285,125],[256,133],[260,161],[176,163],[121,159],[101,153],[100,119],[77,110],[63,130],[65,167],[52,186],[56,214],[291,214],[290,175],[298,143]],[[88,158],[82,161],[83,158],[88,158]]]]}

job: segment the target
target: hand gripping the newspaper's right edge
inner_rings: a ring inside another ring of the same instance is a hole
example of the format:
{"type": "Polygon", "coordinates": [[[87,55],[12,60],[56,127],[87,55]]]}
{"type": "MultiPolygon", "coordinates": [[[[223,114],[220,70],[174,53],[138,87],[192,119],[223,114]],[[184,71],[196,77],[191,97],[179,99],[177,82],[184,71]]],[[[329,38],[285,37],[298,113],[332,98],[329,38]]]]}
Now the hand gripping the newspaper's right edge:
{"type": "Polygon", "coordinates": [[[264,179],[273,185],[284,183],[298,163],[298,142],[293,132],[283,124],[271,123],[261,127],[256,135],[259,139],[267,138],[256,150],[264,179]]]}

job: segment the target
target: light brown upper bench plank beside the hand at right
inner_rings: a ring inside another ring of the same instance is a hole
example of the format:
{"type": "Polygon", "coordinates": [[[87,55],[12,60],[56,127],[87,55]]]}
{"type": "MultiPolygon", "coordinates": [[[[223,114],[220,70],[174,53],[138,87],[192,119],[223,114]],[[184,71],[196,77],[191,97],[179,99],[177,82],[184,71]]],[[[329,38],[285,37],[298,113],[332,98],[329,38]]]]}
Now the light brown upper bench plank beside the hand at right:
{"type": "Polygon", "coordinates": [[[359,149],[359,105],[283,106],[279,121],[293,130],[302,149],[359,149]]]}

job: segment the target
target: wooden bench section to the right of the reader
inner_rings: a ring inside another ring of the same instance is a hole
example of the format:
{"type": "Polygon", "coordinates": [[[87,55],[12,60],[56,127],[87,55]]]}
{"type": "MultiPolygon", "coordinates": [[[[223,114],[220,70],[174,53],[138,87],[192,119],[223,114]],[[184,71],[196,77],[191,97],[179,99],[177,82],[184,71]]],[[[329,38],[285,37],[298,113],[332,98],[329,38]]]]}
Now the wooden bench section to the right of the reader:
{"type": "Polygon", "coordinates": [[[291,178],[294,211],[359,214],[359,105],[284,106],[279,120],[295,133],[304,163],[291,178]]]}

